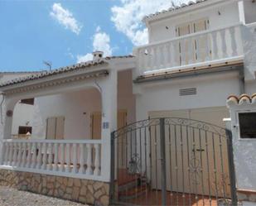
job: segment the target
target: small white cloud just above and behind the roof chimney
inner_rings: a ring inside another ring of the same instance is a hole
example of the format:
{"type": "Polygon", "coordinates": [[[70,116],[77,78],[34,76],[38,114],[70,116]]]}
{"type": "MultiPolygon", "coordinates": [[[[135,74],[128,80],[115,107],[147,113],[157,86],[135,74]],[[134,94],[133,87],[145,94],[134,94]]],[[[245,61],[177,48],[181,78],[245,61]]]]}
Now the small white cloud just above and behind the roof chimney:
{"type": "MultiPolygon", "coordinates": [[[[101,31],[100,27],[96,28],[96,32],[93,36],[93,50],[102,50],[104,56],[112,55],[113,49],[110,46],[110,37],[104,31],[101,31]]],[[[86,55],[77,55],[77,63],[93,60],[93,55],[88,53],[86,55]]]]}

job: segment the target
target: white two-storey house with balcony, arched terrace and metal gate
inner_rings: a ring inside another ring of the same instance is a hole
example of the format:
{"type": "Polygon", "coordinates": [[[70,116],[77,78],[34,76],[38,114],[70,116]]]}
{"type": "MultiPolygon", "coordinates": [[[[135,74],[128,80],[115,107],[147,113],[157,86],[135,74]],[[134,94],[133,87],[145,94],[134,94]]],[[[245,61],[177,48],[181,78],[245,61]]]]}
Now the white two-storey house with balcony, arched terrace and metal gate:
{"type": "Polygon", "coordinates": [[[2,83],[2,184],[89,204],[254,194],[235,180],[223,118],[230,94],[256,91],[255,11],[253,0],[189,2],[144,17],[149,43],[133,55],[95,51],[2,83]],[[15,105],[30,98],[31,137],[13,140],[15,105]]]}

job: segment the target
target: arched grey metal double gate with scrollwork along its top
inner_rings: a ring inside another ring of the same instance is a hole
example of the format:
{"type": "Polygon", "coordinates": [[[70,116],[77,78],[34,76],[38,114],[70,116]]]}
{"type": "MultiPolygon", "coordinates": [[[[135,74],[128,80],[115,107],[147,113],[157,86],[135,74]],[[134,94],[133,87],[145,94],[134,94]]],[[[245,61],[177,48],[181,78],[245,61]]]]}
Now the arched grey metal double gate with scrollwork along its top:
{"type": "Polygon", "coordinates": [[[166,117],[112,132],[112,204],[236,205],[231,132],[166,117]]]}

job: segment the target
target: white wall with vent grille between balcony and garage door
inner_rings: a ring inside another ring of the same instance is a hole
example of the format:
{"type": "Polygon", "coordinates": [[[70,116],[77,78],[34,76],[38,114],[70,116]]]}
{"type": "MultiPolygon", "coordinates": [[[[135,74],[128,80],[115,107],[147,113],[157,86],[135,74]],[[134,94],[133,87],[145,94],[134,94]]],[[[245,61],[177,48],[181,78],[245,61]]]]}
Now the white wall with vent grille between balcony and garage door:
{"type": "MultiPolygon", "coordinates": [[[[148,112],[188,108],[225,106],[225,99],[239,93],[238,74],[210,74],[187,79],[173,79],[151,84],[138,84],[137,120],[146,119],[148,112]],[[179,96],[179,89],[197,88],[196,95],[179,96]]],[[[134,91],[136,92],[136,91],[134,91]]]]}

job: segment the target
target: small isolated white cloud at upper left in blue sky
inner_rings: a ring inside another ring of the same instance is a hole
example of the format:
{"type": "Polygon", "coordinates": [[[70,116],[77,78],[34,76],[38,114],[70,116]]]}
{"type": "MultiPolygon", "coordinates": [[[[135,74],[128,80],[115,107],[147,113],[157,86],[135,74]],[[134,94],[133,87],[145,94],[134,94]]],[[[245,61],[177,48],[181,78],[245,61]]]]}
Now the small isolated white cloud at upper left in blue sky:
{"type": "Polygon", "coordinates": [[[69,29],[74,32],[76,35],[80,34],[82,29],[82,25],[80,22],[77,22],[73,14],[64,7],[61,6],[60,3],[54,3],[51,7],[50,16],[56,19],[62,26],[65,26],[65,29],[69,29]]]}

